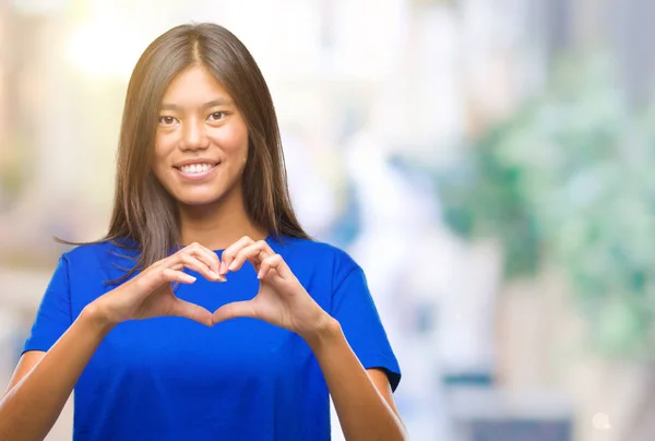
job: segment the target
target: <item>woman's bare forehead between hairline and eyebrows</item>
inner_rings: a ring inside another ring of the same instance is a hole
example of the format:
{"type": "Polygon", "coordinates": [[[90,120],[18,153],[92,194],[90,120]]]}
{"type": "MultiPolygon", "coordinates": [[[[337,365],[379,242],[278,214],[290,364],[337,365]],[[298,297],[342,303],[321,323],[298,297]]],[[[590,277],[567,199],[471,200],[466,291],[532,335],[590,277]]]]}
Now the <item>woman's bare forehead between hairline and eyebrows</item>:
{"type": "Polygon", "coordinates": [[[168,84],[163,104],[194,106],[215,100],[230,103],[233,99],[206,68],[192,65],[178,73],[168,84]]]}

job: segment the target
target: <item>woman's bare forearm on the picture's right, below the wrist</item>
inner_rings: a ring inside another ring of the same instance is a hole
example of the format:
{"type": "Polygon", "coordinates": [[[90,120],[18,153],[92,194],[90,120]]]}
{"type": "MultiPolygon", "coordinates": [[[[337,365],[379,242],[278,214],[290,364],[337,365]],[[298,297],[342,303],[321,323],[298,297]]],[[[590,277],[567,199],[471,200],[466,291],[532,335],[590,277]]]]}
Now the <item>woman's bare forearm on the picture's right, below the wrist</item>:
{"type": "Polygon", "coordinates": [[[317,357],[348,441],[405,440],[400,417],[378,392],[336,320],[306,338],[317,357]]]}

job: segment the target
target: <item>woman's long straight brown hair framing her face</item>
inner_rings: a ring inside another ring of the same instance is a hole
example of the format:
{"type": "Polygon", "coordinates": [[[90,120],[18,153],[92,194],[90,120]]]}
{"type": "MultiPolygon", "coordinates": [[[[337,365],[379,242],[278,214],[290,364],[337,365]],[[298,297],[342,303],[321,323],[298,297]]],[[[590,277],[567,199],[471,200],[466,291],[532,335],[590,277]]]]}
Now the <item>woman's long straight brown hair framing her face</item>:
{"type": "Polygon", "coordinates": [[[145,49],[128,85],[114,210],[108,233],[99,240],[139,251],[135,266],[121,279],[179,246],[176,201],[152,171],[151,158],[164,93],[171,80],[191,65],[202,65],[216,78],[248,127],[242,179],[251,222],[275,238],[309,238],[291,206],[275,108],[254,59],[226,28],[213,23],[184,24],[167,31],[145,49]]]}

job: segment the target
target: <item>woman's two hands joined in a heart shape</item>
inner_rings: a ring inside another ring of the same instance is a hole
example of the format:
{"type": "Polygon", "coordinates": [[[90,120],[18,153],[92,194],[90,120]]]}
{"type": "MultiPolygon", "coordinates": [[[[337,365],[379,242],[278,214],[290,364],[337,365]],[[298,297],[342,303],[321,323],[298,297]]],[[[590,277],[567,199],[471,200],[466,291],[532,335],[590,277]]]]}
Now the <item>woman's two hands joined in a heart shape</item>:
{"type": "Polygon", "coordinates": [[[250,317],[307,336],[331,320],[265,240],[255,242],[243,237],[228,247],[222,258],[219,261],[213,251],[192,243],[155,262],[134,278],[100,296],[93,305],[109,324],[177,315],[211,326],[237,317],[250,317]],[[247,261],[252,263],[260,279],[260,289],[251,300],[225,305],[212,314],[177,298],[171,289],[171,283],[195,282],[195,277],[182,271],[184,267],[209,281],[225,282],[227,273],[239,271],[247,261]]]}

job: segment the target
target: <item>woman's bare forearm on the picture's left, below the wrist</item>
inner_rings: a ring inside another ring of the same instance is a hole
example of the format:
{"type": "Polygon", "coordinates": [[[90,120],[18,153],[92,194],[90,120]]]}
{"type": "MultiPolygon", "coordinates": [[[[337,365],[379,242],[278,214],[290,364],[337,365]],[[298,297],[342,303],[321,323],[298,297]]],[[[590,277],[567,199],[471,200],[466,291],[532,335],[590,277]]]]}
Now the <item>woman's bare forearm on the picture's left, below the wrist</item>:
{"type": "Polygon", "coordinates": [[[109,332],[88,309],[0,401],[0,441],[43,440],[109,332]]]}

